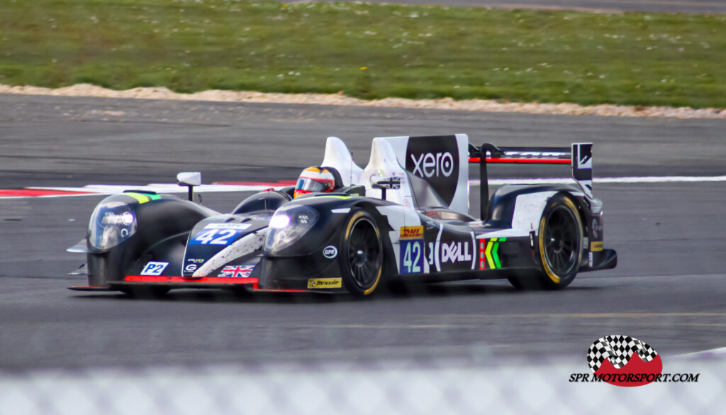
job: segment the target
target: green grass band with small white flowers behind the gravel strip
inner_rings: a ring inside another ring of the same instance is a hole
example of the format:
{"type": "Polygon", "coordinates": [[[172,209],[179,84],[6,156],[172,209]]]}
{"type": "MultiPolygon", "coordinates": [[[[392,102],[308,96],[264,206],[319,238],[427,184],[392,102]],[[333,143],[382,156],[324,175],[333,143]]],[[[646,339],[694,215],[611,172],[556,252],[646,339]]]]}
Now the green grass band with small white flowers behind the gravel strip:
{"type": "Polygon", "coordinates": [[[726,15],[1,0],[0,83],[726,107],[726,15]]]}

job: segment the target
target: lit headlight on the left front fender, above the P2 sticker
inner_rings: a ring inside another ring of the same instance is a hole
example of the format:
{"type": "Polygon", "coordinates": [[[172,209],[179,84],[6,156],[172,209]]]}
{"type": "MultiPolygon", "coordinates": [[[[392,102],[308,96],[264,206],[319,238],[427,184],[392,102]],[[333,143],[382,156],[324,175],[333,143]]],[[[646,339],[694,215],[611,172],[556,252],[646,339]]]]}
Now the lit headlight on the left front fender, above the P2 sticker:
{"type": "Polygon", "coordinates": [[[136,233],[136,215],[121,201],[108,201],[96,207],[89,222],[89,242],[96,249],[109,249],[136,233]]]}

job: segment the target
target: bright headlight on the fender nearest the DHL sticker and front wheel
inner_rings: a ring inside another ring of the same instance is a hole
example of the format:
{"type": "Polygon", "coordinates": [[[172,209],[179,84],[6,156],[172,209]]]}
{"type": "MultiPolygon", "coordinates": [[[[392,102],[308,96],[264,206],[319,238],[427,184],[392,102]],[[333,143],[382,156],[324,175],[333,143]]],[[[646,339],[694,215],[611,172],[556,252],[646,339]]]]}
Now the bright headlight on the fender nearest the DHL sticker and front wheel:
{"type": "Polygon", "coordinates": [[[274,254],[292,245],[315,225],[318,217],[317,211],[308,206],[288,205],[277,209],[270,219],[264,251],[274,254]]]}

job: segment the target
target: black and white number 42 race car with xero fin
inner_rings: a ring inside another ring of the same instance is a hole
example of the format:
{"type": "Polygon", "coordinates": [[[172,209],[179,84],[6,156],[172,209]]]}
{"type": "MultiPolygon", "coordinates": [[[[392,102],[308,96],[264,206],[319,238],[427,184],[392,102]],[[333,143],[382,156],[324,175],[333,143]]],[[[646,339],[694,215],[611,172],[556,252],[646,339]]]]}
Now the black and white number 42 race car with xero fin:
{"type": "Polygon", "coordinates": [[[198,173],[179,174],[189,200],[108,196],[86,238],[68,249],[88,259],[88,285],[70,289],[362,297],[384,283],[492,278],[559,289],[578,272],[616,266],[616,252],[603,248],[602,202],[592,196],[592,144],[498,148],[470,145],[465,134],[378,137],[361,169],[343,141],[329,137],[320,166],[305,172],[294,188],[256,193],[229,214],[192,201],[198,173]],[[479,166],[481,219],[468,214],[469,163],[479,166]],[[574,185],[505,185],[489,198],[492,163],[571,164],[574,185]]]}

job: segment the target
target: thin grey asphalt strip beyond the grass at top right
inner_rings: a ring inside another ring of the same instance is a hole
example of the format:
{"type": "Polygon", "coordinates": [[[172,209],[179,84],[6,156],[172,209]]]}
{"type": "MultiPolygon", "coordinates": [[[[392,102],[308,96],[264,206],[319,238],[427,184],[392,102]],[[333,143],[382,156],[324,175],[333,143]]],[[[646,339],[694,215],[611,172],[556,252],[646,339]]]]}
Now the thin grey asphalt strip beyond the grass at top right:
{"type": "MultiPolygon", "coordinates": [[[[315,0],[337,1],[337,0],[315,0]]],[[[346,1],[346,0],[343,0],[346,1]]],[[[450,7],[580,10],[584,12],[726,13],[723,0],[367,0],[370,3],[442,4],[450,7]]],[[[309,2],[309,1],[301,1],[309,2]]]]}

